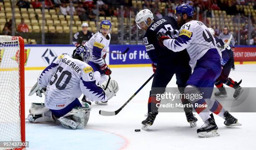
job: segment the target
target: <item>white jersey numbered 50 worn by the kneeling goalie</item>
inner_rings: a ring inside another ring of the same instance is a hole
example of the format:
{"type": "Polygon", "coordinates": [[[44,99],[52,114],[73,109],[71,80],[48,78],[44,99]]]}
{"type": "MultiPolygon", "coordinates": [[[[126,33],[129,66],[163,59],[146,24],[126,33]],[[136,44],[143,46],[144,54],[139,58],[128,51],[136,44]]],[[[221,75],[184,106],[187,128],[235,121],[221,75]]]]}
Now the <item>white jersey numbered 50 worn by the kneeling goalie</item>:
{"type": "Polygon", "coordinates": [[[52,62],[38,78],[46,87],[45,105],[49,109],[65,108],[81,94],[91,101],[107,101],[103,89],[95,84],[90,65],[64,54],[52,62]]]}

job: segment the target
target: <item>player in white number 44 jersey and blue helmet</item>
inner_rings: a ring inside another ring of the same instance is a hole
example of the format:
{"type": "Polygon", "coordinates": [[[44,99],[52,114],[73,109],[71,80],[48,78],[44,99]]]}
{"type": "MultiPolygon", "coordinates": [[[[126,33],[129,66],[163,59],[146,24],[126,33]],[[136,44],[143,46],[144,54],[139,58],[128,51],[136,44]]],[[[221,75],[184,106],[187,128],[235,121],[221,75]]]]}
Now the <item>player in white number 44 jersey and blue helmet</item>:
{"type": "Polygon", "coordinates": [[[189,64],[194,71],[187,81],[184,93],[202,94],[203,97],[189,99],[195,111],[205,122],[200,129],[197,129],[197,134],[200,137],[218,136],[218,126],[209,111],[225,119],[224,124],[227,126],[241,125],[235,117],[225,111],[217,100],[210,99],[214,81],[221,72],[221,53],[215,45],[215,38],[212,37],[207,27],[201,21],[193,20],[194,8],[192,6],[179,5],[175,9],[175,15],[178,25],[181,26],[179,37],[172,39],[165,33],[159,33],[159,42],[174,52],[187,49],[190,57],[189,64]]]}

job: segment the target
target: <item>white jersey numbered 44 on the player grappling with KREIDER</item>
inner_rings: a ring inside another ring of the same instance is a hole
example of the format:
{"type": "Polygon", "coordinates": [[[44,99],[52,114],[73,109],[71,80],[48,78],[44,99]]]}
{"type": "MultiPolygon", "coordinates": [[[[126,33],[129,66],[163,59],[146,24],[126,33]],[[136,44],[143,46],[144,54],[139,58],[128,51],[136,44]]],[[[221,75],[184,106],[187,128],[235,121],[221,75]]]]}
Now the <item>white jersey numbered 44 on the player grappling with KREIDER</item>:
{"type": "MultiPolygon", "coordinates": [[[[190,56],[189,65],[195,68],[197,60],[210,48],[217,48],[215,38],[208,31],[207,27],[197,20],[189,21],[180,28],[180,34],[177,39],[164,40],[164,46],[174,52],[182,51],[187,48],[190,56]]],[[[221,56],[220,51],[218,53],[221,56]]]]}

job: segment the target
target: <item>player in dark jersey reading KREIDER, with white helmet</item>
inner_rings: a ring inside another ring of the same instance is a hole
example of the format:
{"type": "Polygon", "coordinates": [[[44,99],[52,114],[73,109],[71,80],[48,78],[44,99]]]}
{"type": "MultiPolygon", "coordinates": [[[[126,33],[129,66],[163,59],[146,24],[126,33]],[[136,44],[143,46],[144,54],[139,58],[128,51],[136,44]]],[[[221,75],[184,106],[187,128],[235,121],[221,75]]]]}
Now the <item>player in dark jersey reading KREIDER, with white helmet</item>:
{"type": "MultiPolygon", "coordinates": [[[[160,101],[156,100],[156,94],[163,94],[165,92],[165,88],[174,74],[176,75],[176,84],[179,87],[179,92],[184,93],[184,87],[191,75],[191,68],[189,66],[187,51],[174,53],[166,47],[161,46],[156,39],[158,32],[168,30],[174,30],[169,33],[171,37],[177,37],[179,35],[177,34],[177,22],[173,17],[165,16],[154,21],[153,13],[148,9],[144,9],[136,15],[135,21],[139,29],[146,31],[143,37],[143,43],[145,44],[149,58],[153,61],[152,67],[155,73],[148,98],[147,118],[141,122],[143,125],[142,129],[148,130],[149,126],[153,125],[158,114],[156,104],[159,104],[160,101]]],[[[187,99],[182,99],[182,104],[188,103],[187,99]]],[[[192,108],[185,108],[184,111],[187,122],[190,123],[191,127],[195,127],[197,118],[194,117],[192,108]]]]}

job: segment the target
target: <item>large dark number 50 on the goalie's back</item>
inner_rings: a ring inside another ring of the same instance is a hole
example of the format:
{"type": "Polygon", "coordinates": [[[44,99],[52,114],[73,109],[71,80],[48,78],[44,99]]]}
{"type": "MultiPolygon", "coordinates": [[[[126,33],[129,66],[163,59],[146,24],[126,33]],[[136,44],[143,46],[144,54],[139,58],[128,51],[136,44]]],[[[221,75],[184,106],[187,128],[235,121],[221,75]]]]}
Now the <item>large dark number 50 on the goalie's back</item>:
{"type": "MultiPolygon", "coordinates": [[[[58,79],[57,73],[58,73],[58,72],[61,72],[62,70],[63,70],[63,68],[62,68],[61,66],[59,66],[59,67],[57,68],[56,73],[54,74],[54,78],[55,78],[55,79],[54,79],[54,81],[51,81],[51,80],[50,80],[50,85],[52,85],[52,84],[55,83],[55,81],[58,79]]],[[[67,70],[66,70],[66,71],[63,71],[63,72],[61,73],[61,75],[59,76],[58,81],[57,81],[56,84],[55,84],[56,88],[59,89],[59,90],[65,89],[65,87],[66,87],[67,84],[69,83],[71,77],[72,77],[72,74],[71,74],[69,71],[67,71],[67,70]],[[67,79],[66,79],[66,81],[64,82],[64,84],[62,84],[62,86],[60,86],[59,84],[61,83],[61,81],[62,81],[62,79],[64,78],[65,75],[67,75],[67,79]]]]}

